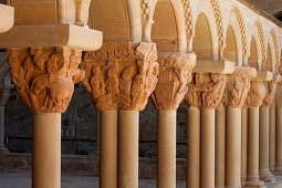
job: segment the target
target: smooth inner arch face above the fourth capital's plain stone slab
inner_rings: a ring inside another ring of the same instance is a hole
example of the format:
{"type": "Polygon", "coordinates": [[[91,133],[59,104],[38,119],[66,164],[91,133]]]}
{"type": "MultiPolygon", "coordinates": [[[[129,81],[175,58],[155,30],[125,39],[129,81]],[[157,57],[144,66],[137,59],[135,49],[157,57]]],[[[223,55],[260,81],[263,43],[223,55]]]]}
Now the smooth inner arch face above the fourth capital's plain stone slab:
{"type": "Polygon", "coordinates": [[[195,24],[195,38],[192,40],[192,50],[200,60],[213,59],[213,38],[210,23],[205,13],[200,13],[195,24]]]}

